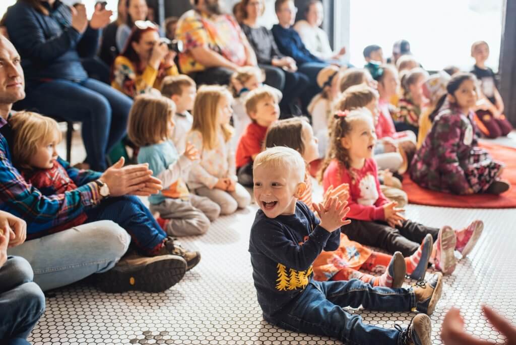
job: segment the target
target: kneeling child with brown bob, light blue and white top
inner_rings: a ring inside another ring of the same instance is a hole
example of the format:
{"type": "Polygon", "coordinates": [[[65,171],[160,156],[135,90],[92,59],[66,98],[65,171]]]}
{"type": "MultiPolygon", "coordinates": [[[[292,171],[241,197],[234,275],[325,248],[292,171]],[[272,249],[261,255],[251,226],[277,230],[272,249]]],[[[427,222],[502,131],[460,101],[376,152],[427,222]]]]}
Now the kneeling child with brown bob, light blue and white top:
{"type": "Polygon", "coordinates": [[[159,225],[170,236],[190,236],[205,233],[211,221],[220,214],[212,200],[190,194],[185,179],[198,151],[186,143],[179,154],[170,140],[175,104],[161,96],[138,96],[131,108],[127,134],[140,147],[138,163],[148,163],[154,176],[162,181],[164,190],[149,197],[150,209],[159,212],[159,225]]]}

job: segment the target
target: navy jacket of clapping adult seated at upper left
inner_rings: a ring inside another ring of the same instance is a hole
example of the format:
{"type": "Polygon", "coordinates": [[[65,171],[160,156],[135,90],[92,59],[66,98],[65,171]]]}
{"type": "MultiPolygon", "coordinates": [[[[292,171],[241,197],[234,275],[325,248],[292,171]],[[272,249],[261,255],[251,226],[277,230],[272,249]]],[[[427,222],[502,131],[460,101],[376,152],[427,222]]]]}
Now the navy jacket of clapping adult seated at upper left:
{"type": "Polygon", "coordinates": [[[18,1],[7,11],[9,39],[22,58],[26,81],[66,79],[82,81],[88,74],[81,57],[91,57],[99,44],[100,30],[88,26],[83,34],[71,26],[70,8],[56,0],[49,15],[18,1]]]}

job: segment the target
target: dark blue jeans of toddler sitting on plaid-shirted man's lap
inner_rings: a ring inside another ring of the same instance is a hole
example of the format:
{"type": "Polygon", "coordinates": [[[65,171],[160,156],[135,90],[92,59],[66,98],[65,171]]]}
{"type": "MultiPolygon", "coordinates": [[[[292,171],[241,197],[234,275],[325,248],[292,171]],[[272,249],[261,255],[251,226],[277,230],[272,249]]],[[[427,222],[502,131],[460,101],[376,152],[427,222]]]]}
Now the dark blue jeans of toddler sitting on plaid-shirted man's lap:
{"type": "Polygon", "coordinates": [[[113,221],[127,231],[133,244],[144,254],[151,254],[167,233],[159,226],[151,211],[136,196],[108,198],[86,212],[89,222],[113,221]]]}

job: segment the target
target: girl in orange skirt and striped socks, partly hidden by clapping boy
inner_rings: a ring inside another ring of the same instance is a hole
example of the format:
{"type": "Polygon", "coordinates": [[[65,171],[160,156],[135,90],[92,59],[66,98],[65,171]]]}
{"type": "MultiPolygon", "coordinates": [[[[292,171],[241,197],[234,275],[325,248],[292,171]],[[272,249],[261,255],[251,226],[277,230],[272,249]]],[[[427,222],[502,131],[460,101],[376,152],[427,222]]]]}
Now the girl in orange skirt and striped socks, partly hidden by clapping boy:
{"type": "MultiPolygon", "coordinates": [[[[265,147],[286,146],[298,151],[304,162],[310,164],[317,159],[318,140],[315,137],[308,119],[295,117],[280,120],[269,128],[265,138],[265,147]]],[[[299,198],[313,210],[312,178],[307,172],[304,176],[306,189],[299,198]]],[[[348,199],[348,185],[341,184],[336,189],[330,187],[326,195],[338,195],[339,199],[348,199]]],[[[341,233],[341,241],[337,250],[322,251],[313,263],[314,279],[316,280],[349,280],[357,278],[373,286],[401,287],[405,274],[420,280],[424,278],[428,259],[432,251],[433,240],[430,234],[425,237],[420,249],[410,257],[403,258],[401,253],[394,256],[374,252],[360,243],[350,241],[341,233]],[[367,269],[383,273],[380,277],[362,273],[357,270],[367,269]]]]}

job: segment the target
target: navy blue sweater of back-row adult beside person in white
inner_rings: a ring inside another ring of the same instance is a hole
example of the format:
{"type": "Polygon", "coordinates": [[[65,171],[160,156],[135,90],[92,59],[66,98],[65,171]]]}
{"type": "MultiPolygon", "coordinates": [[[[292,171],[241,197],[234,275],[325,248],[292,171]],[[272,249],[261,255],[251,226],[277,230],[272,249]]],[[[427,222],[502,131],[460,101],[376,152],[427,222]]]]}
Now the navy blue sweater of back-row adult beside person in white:
{"type": "Polygon", "coordinates": [[[302,65],[306,62],[325,62],[310,53],[307,47],[304,46],[303,41],[301,41],[301,37],[297,31],[292,27],[285,29],[280,24],[275,24],[272,26],[271,31],[280,52],[292,57],[296,60],[296,64],[302,65]]]}

